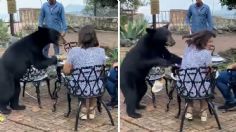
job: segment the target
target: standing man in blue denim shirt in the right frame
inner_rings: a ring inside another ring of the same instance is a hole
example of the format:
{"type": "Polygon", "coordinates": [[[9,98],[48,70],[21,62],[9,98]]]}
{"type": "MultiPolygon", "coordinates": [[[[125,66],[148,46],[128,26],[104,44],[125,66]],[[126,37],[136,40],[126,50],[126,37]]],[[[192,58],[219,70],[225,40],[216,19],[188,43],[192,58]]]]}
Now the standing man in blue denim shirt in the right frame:
{"type": "Polygon", "coordinates": [[[202,30],[213,30],[211,11],[202,0],[196,0],[187,12],[186,22],[189,25],[190,34],[202,30]]]}

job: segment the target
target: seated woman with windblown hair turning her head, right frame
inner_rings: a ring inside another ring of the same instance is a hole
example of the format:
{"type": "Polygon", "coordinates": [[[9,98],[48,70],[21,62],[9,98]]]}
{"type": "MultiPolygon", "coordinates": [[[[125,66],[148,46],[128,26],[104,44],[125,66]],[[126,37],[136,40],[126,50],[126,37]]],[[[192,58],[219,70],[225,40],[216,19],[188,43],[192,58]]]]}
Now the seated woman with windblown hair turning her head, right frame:
{"type": "MultiPolygon", "coordinates": [[[[184,51],[181,69],[207,67],[211,65],[212,56],[211,56],[211,51],[209,49],[211,49],[212,47],[212,44],[211,44],[212,37],[216,37],[216,35],[213,32],[207,31],[207,30],[183,37],[183,38],[189,38],[189,39],[186,40],[186,43],[188,45],[184,51]]],[[[186,79],[186,78],[183,78],[183,79],[186,79]]],[[[201,80],[201,77],[196,76],[195,81],[197,80],[201,80]]],[[[207,85],[207,84],[204,84],[204,85],[207,85]]],[[[192,90],[191,94],[195,95],[196,91],[192,90]]],[[[201,121],[206,121],[207,120],[207,111],[206,111],[207,104],[203,100],[200,100],[200,109],[201,109],[201,115],[200,115],[201,121]]],[[[185,115],[185,118],[192,120],[193,119],[192,113],[193,113],[193,102],[190,103],[190,106],[185,115]]]]}

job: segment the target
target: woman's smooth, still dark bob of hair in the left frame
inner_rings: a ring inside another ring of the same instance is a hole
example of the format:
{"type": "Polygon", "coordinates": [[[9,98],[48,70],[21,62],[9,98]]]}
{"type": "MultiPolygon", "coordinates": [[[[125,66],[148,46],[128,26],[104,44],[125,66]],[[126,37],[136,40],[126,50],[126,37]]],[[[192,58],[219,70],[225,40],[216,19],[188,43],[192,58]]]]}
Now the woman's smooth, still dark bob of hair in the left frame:
{"type": "Polygon", "coordinates": [[[80,29],[79,44],[85,49],[99,46],[94,26],[86,25],[80,29]]]}

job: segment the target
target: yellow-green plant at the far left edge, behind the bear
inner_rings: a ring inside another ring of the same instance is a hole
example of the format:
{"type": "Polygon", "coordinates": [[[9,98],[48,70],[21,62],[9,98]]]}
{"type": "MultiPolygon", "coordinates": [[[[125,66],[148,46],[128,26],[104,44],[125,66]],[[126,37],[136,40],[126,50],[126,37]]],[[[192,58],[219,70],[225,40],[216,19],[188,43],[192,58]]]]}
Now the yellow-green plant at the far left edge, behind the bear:
{"type": "Polygon", "coordinates": [[[0,19],[0,41],[7,42],[10,39],[10,35],[7,33],[8,26],[0,19]]]}

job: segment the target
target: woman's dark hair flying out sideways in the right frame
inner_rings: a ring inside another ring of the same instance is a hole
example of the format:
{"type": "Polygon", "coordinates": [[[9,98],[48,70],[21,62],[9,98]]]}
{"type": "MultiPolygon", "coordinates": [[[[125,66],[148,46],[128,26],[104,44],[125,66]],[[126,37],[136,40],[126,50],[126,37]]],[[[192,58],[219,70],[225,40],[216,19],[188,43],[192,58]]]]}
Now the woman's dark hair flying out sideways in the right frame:
{"type": "Polygon", "coordinates": [[[186,40],[186,43],[190,45],[195,45],[197,49],[204,49],[207,45],[207,42],[212,37],[216,37],[216,34],[212,31],[204,30],[191,35],[185,35],[182,38],[189,38],[186,40]]]}

